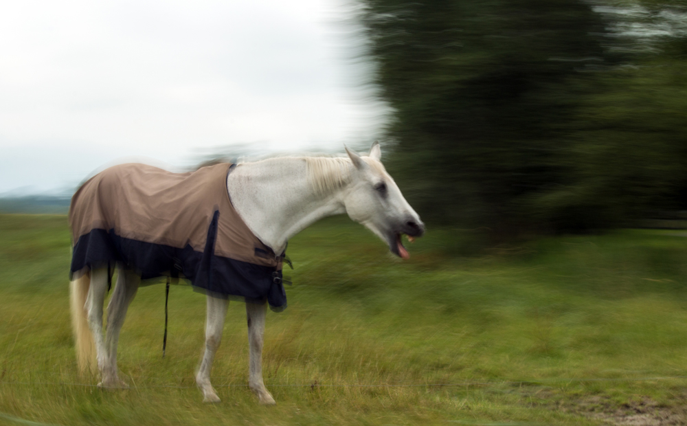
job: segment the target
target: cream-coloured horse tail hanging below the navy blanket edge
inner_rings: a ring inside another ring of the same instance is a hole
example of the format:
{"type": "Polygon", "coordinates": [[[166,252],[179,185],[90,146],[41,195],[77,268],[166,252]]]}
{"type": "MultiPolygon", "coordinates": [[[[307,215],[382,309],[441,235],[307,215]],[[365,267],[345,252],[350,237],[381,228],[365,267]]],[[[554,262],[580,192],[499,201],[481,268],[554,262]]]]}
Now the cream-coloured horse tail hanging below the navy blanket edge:
{"type": "Polygon", "coordinates": [[[88,326],[88,313],[85,309],[86,298],[91,287],[91,273],[86,271],[69,285],[69,300],[71,302],[71,324],[74,327],[76,339],[76,361],[79,371],[95,372],[95,343],[88,326]]]}

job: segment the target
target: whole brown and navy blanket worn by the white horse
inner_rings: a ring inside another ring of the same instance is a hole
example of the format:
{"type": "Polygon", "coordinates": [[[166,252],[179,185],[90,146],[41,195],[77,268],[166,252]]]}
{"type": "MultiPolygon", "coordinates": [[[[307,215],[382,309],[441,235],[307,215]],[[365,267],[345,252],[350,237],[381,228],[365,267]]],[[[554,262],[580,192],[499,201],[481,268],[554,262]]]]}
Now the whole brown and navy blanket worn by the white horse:
{"type": "Polygon", "coordinates": [[[234,210],[231,166],[172,173],[122,164],[86,181],[69,207],[71,274],[121,262],[143,280],[187,278],[213,295],[286,308],[284,254],[275,256],[234,210]]]}

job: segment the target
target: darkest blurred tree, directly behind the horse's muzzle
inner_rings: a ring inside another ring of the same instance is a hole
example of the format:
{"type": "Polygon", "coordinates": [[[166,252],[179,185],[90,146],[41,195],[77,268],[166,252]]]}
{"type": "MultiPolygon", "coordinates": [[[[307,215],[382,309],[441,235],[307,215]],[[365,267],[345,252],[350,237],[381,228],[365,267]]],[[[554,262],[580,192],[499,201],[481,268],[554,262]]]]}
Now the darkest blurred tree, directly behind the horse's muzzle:
{"type": "Polygon", "coordinates": [[[524,194],[563,181],[603,23],[577,0],[363,0],[381,96],[396,114],[390,168],[425,216],[510,233],[524,194]]]}

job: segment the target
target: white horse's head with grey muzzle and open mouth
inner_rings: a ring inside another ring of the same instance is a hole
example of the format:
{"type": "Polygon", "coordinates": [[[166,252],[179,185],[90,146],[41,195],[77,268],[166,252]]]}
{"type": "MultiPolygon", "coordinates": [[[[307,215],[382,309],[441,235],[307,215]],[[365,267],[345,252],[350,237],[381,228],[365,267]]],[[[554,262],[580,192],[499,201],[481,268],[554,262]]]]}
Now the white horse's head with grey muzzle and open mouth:
{"type": "Polygon", "coordinates": [[[348,148],[346,153],[354,166],[343,199],[348,216],[379,236],[393,254],[409,258],[401,243],[401,234],[407,234],[411,240],[423,236],[425,224],[381,164],[379,144],[374,142],[366,157],[348,148]]]}

